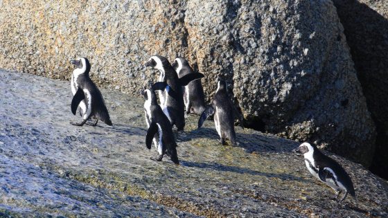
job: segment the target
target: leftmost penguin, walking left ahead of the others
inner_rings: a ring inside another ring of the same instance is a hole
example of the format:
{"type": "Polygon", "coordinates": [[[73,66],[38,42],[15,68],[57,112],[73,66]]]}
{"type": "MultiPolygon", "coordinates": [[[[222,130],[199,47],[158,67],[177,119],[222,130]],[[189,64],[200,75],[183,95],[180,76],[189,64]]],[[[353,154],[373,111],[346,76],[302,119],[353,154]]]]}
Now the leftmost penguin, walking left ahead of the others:
{"type": "Polygon", "coordinates": [[[82,57],[78,60],[71,60],[70,63],[76,66],[71,77],[71,91],[74,93],[74,90],[76,90],[73,100],[71,100],[71,112],[76,115],[77,108],[80,106],[83,119],[82,122],[70,122],[71,125],[82,126],[89,118],[94,118],[92,126],[96,126],[98,120],[112,126],[103,96],[101,96],[96,84],[89,78],[89,60],[82,57]]]}

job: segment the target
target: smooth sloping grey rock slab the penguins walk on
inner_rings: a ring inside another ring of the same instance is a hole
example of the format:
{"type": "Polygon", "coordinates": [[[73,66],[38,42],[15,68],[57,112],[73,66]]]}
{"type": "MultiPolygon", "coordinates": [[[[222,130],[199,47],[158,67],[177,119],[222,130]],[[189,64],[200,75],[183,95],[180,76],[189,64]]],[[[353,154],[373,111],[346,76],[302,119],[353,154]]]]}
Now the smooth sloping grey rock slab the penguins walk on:
{"type": "Polygon", "coordinates": [[[143,100],[101,89],[113,126],[74,127],[69,82],[0,71],[0,217],[387,217],[388,184],[333,156],[358,205],[340,205],[313,178],[299,143],[236,127],[220,145],[214,123],[189,116],[181,165],[145,147],[143,100]]]}

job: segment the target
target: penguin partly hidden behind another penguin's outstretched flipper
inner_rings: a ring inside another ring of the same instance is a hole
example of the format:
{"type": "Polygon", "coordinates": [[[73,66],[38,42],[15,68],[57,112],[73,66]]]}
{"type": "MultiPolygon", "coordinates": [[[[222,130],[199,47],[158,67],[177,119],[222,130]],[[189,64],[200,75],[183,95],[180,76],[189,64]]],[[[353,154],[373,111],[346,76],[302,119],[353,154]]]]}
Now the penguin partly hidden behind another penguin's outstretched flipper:
{"type": "MultiPolygon", "coordinates": [[[[194,73],[187,60],[183,57],[175,58],[173,62],[173,68],[178,73],[178,77],[182,78],[184,75],[194,73]]],[[[184,89],[184,105],[186,106],[186,114],[195,113],[201,115],[206,109],[204,88],[202,87],[201,80],[193,80],[188,83],[184,89]]]]}

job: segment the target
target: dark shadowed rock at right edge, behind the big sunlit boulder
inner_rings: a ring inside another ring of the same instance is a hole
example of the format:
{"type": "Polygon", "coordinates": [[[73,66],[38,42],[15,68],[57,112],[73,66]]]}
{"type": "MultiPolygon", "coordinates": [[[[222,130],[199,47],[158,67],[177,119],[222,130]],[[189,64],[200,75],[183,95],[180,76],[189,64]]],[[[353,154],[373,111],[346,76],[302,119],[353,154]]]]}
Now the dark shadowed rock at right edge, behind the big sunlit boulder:
{"type": "Polygon", "coordinates": [[[376,122],[371,169],[388,179],[388,2],[335,0],[358,79],[376,122]]]}

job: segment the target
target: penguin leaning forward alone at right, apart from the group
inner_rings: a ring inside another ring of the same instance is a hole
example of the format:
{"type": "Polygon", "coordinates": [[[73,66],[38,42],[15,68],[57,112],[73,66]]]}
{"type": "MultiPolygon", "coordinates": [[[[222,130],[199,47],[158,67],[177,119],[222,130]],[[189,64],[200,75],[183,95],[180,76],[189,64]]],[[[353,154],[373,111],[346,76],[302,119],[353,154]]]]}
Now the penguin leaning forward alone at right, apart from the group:
{"type": "Polygon", "coordinates": [[[351,177],[339,163],[324,155],[314,144],[302,143],[296,152],[303,154],[306,167],[313,176],[335,190],[335,199],[345,192],[340,202],[348,193],[357,201],[351,177]]]}

